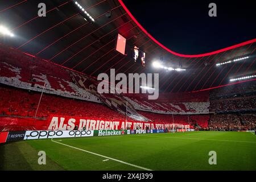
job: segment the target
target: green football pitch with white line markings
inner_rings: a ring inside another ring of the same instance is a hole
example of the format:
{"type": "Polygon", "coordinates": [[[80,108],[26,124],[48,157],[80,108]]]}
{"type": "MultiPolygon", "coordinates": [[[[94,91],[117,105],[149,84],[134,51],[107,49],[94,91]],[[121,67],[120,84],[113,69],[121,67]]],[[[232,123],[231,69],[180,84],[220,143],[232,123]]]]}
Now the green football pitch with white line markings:
{"type": "Polygon", "coordinates": [[[26,140],[0,152],[1,170],[256,170],[256,136],[243,132],[26,140]],[[39,151],[46,165],[38,164],[39,151]],[[217,164],[209,164],[210,151],[217,164]]]}

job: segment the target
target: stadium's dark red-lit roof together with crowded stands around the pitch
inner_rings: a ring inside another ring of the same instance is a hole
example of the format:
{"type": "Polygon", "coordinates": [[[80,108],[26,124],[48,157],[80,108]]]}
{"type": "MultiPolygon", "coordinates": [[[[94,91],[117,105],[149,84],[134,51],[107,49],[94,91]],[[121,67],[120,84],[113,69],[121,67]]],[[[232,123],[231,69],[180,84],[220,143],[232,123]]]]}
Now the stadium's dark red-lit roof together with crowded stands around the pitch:
{"type": "Polygon", "coordinates": [[[121,0],[47,0],[42,17],[38,3],[0,2],[1,132],[49,130],[55,116],[158,123],[144,129],[169,132],[254,131],[256,39],[184,55],[155,40],[121,0]],[[158,99],[97,94],[97,76],[110,69],[159,73],[158,99]]]}

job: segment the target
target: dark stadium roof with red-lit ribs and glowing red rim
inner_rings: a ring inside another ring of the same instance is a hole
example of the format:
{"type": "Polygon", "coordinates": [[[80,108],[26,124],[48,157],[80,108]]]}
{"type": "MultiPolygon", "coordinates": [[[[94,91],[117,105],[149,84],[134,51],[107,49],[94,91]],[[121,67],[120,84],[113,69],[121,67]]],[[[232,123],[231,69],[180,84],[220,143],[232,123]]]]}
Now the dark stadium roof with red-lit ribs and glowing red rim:
{"type": "Polygon", "coordinates": [[[47,13],[42,17],[38,16],[40,1],[1,1],[0,22],[14,37],[0,39],[19,51],[95,77],[110,73],[110,68],[115,68],[116,73],[159,73],[160,92],[167,93],[216,88],[230,84],[230,78],[256,72],[256,39],[214,52],[183,55],[148,34],[121,0],[77,2],[94,22],[71,0],[44,1],[47,13]],[[145,67],[115,51],[118,33],[127,39],[127,44],[146,52],[145,67]],[[152,68],[152,62],[161,56],[169,67],[182,65],[186,71],[152,68]],[[245,61],[216,66],[247,56],[245,61]]]}

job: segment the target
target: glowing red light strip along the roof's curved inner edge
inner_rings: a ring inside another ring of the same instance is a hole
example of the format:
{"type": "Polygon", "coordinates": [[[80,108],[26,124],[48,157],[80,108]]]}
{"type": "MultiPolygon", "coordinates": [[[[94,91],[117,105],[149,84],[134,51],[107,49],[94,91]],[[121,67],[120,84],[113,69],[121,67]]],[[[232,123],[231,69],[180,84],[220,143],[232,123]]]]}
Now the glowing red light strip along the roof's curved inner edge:
{"type": "Polygon", "coordinates": [[[134,20],[134,22],[137,24],[137,26],[139,28],[141,28],[141,30],[150,38],[152,39],[156,44],[158,44],[158,46],[162,47],[163,49],[165,49],[166,51],[176,55],[176,56],[180,56],[180,57],[203,57],[203,56],[210,56],[210,55],[214,55],[216,53],[220,53],[220,52],[224,52],[224,51],[228,51],[230,49],[234,49],[234,48],[237,48],[237,47],[241,47],[241,46],[245,46],[247,44],[251,44],[251,43],[254,43],[256,42],[256,39],[252,39],[252,40],[248,40],[246,42],[243,42],[243,43],[240,43],[240,44],[236,44],[234,46],[230,46],[230,47],[226,47],[226,48],[223,48],[223,49],[219,49],[217,51],[213,51],[213,52],[207,52],[207,53],[202,53],[202,54],[199,54],[199,55],[183,55],[181,53],[177,53],[177,52],[174,52],[170,49],[168,49],[167,47],[163,46],[163,44],[161,44],[160,42],[158,42],[158,40],[156,40],[152,35],[150,35],[143,27],[141,24],[139,24],[139,22],[134,18],[134,16],[130,13],[130,11],[127,9],[127,7],[125,6],[125,4],[122,2],[122,0],[118,0],[119,3],[122,5],[123,9],[126,11],[127,14],[129,14],[129,16],[131,17],[131,19],[134,20]]]}

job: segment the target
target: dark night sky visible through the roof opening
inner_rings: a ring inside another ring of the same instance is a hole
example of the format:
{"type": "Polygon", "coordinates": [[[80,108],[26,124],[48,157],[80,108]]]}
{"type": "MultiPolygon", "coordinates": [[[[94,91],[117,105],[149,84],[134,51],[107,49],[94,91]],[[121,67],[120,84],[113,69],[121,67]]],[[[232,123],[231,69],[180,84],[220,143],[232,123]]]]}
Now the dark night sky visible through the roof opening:
{"type": "Polygon", "coordinates": [[[175,52],[211,52],[256,38],[254,1],[123,2],[156,40],[175,52]],[[208,15],[211,2],[217,5],[217,17],[208,15]]]}

